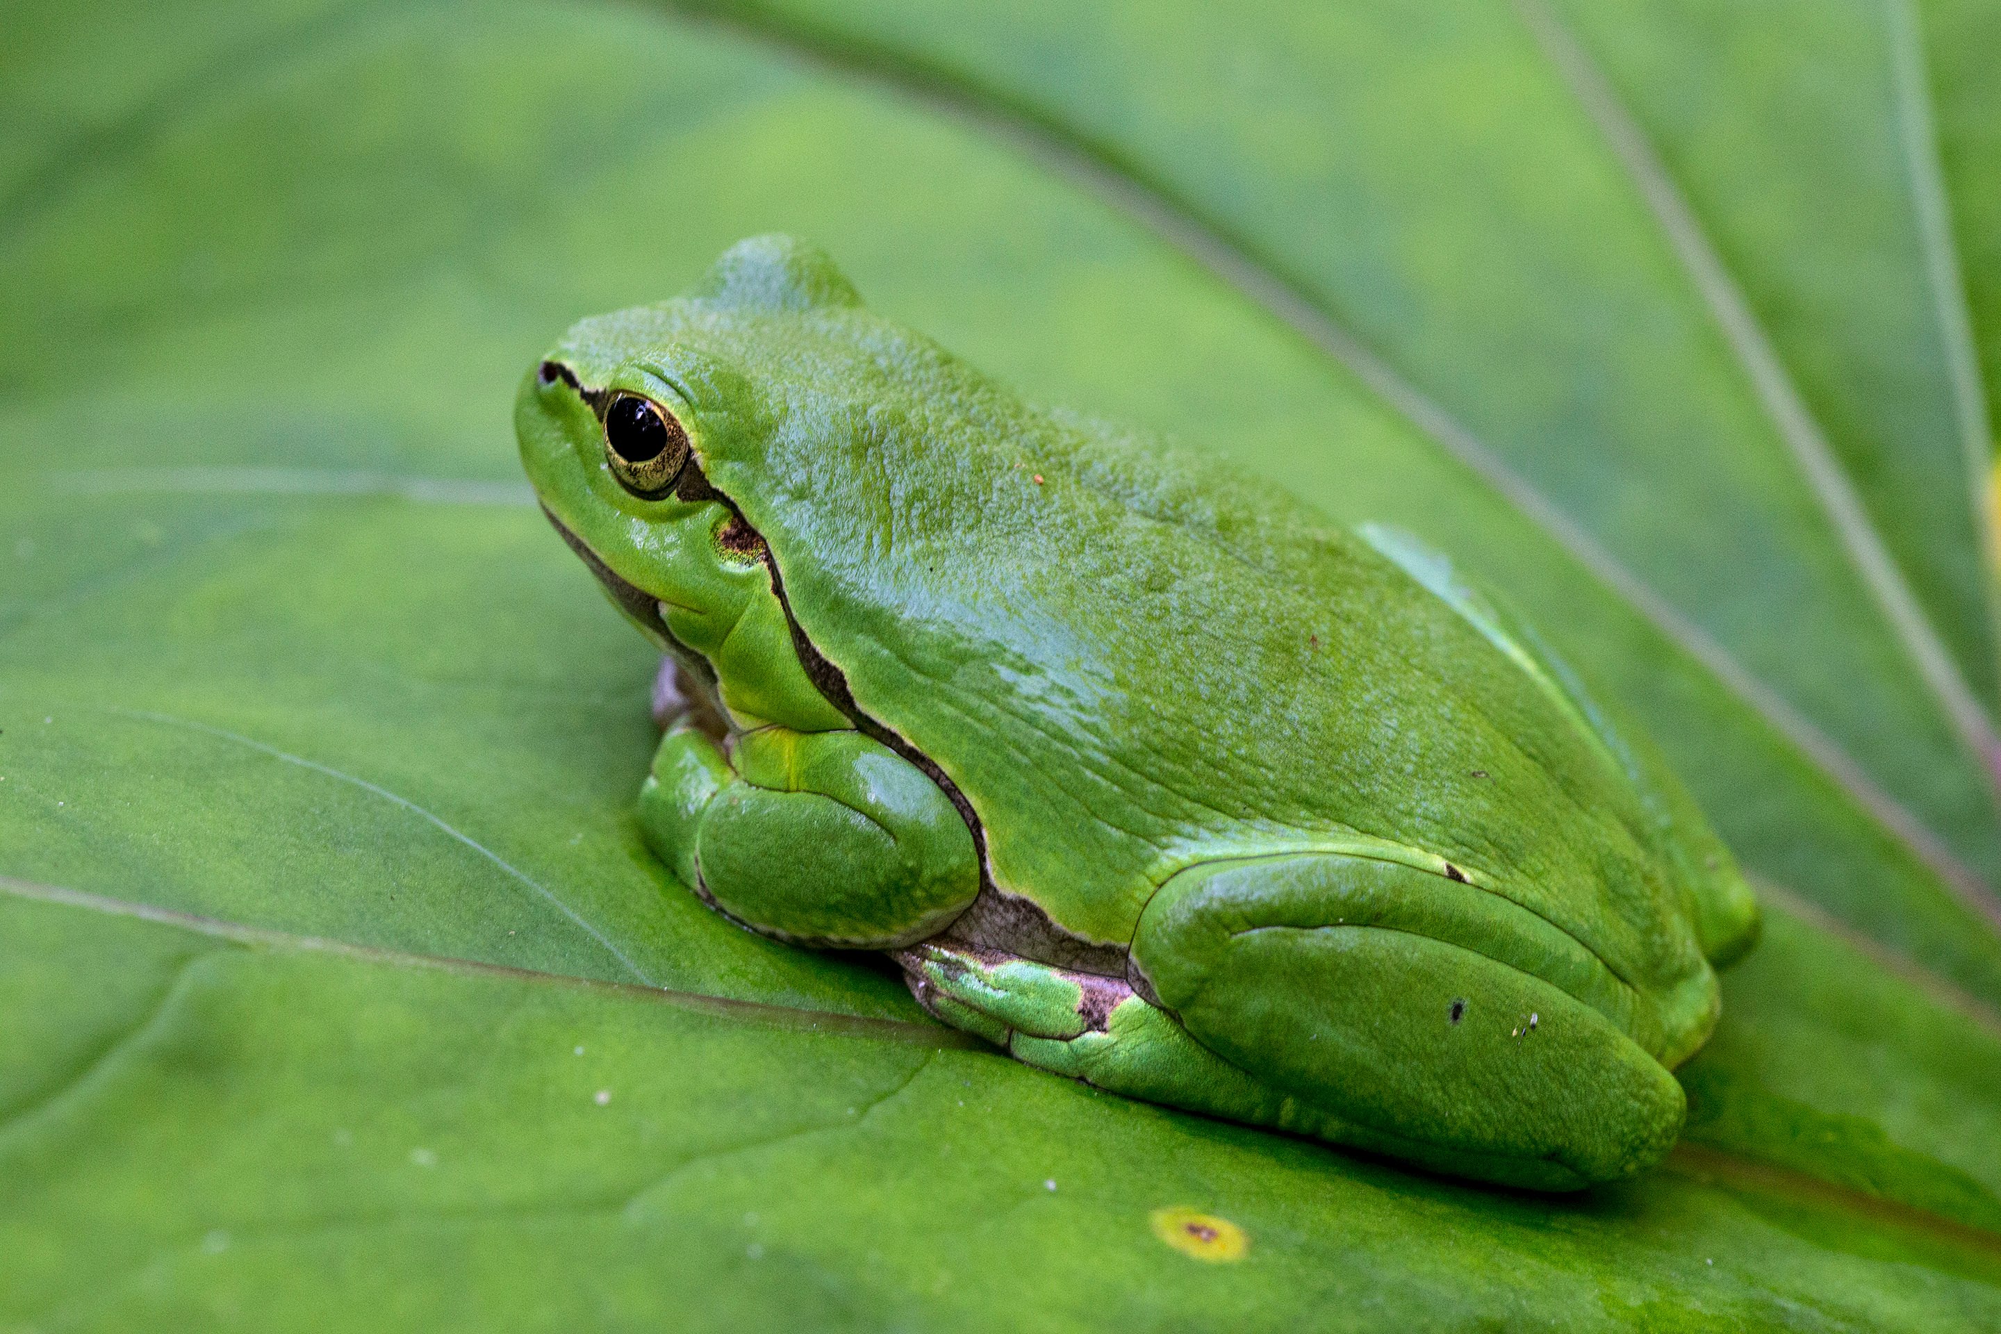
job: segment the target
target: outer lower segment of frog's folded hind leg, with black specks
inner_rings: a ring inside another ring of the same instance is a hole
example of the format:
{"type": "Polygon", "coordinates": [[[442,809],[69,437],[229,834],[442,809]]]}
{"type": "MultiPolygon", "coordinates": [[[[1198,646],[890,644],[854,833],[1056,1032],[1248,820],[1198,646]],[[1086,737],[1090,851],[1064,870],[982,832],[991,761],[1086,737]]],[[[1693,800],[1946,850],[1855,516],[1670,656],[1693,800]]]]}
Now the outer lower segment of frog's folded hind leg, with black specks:
{"type": "Polygon", "coordinates": [[[1457,1174],[1575,1188],[1673,1146],[1681,1086],[1605,1014],[1463,944],[1315,918],[1339,874],[1317,860],[1191,868],[1147,906],[1133,958],[1195,1040],[1329,1138],[1457,1174]]]}

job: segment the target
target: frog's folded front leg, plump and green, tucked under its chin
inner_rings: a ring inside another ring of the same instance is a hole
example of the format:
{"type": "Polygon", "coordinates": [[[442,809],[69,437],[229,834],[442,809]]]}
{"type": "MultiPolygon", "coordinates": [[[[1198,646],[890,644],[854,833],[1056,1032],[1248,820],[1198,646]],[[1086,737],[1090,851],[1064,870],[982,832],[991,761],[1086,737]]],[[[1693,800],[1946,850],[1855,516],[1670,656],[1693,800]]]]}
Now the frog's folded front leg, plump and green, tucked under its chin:
{"type": "Polygon", "coordinates": [[[914,764],[860,732],[758,728],[728,750],[690,722],[660,738],[640,828],[728,918],[794,944],[894,948],[980,888],[972,834],[914,764]]]}

